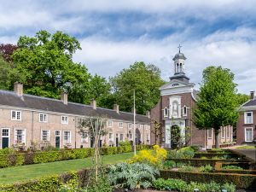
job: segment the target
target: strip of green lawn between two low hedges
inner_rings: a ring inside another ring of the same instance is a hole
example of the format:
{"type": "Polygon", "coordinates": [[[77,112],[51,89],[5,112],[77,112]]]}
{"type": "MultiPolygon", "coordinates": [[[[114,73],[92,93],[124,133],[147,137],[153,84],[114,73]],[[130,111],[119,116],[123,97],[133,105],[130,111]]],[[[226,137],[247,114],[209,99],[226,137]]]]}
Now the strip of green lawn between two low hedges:
{"type": "MultiPolygon", "coordinates": [[[[110,154],[102,156],[103,164],[113,164],[128,160],[133,153],[110,154]]],[[[28,166],[15,166],[0,169],[0,184],[17,183],[37,177],[44,177],[53,174],[61,174],[68,171],[79,171],[80,169],[90,167],[92,159],[62,160],[52,163],[34,164],[28,166]]]]}

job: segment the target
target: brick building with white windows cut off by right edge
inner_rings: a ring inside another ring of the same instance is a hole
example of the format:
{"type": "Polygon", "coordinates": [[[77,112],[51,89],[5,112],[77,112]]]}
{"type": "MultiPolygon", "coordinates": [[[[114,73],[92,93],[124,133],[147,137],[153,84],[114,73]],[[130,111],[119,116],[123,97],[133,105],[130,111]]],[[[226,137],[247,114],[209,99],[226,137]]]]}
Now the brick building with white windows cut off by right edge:
{"type": "Polygon", "coordinates": [[[239,108],[239,119],[236,125],[236,143],[252,144],[256,141],[256,99],[251,91],[250,99],[239,108]]]}

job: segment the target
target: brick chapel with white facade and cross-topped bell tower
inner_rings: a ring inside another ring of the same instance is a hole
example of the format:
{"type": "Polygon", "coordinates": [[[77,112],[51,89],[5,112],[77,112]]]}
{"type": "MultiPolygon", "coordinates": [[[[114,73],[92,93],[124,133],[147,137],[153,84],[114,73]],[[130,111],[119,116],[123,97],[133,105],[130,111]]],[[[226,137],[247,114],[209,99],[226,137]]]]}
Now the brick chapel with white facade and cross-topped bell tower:
{"type": "MultiPolygon", "coordinates": [[[[212,148],[215,140],[213,130],[199,130],[192,122],[192,110],[196,105],[198,91],[194,89],[195,84],[190,83],[185,74],[185,60],[186,57],[179,49],[173,58],[174,75],[170,77],[167,84],[160,87],[160,102],[150,111],[151,119],[161,123],[157,143],[166,148],[172,148],[172,129],[179,126],[183,143],[212,148]]],[[[151,125],[152,130],[153,126],[151,125]]],[[[223,127],[219,134],[219,143],[231,143],[232,137],[233,128],[223,127]]],[[[154,133],[151,133],[151,143],[155,143],[154,133]]]]}

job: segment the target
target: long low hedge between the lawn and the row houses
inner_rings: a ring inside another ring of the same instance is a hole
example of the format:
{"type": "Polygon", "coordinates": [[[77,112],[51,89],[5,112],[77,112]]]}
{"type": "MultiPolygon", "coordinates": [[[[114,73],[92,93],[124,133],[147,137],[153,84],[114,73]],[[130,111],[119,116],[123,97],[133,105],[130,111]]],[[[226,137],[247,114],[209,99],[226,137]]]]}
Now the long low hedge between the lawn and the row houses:
{"type": "MultiPolygon", "coordinates": [[[[137,150],[150,148],[148,145],[138,145],[137,150]]],[[[121,154],[132,151],[131,145],[122,147],[101,148],[102,155],[121,154]]],[[[60,151],[20,153],[0,155],[0,168],[9,166],[22,166],[37,163],[47,163],[60,160],[74,160],[90,157],[94,154],[94,148],[67,149],[60,151]]]]}

